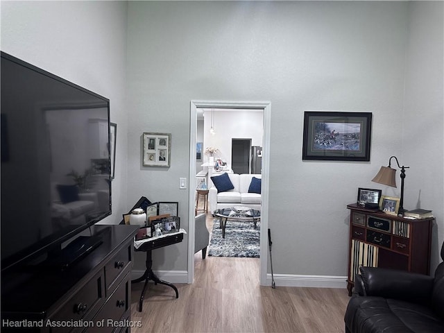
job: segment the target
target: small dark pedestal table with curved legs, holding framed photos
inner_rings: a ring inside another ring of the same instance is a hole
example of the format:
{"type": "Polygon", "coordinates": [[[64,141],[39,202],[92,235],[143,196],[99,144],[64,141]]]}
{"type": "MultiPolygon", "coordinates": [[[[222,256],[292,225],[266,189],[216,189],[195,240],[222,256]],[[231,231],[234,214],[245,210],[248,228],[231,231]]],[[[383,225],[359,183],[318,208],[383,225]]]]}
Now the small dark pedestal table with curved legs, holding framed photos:
{"type": "Polygon", "coordinates": [[[160,280],[160,278],[157,278],[151,267],[153,266],[153,259],[151,256],[151,251],[155,250],[156,248],[163,248],[164,246],[169,246],[172,244],[180,243],[183,240],[183,233],[178,232],[174,234],[164,235],[163,237],[153,237],[151,239],[144,240],[142,246],[139,248],[135,248],[136,251],[143,251],[146,252],[146,261],[145,266],[146,270],[144,274],[135,280],[132,280],[132,283],[138,283],[145,281],[144,288],[142,289],[142,293],[140,294],[139,299],[139,312],[142,312],[142,305],[144,302],[144,296],[146,292],[146,287],[148,287],[148,281],[152,280],[154,284],[164,284],[166,286],[169,286],[176,291],[176,298],[179,298],[179,292],[176,286],[170,282],[160,280]]]}

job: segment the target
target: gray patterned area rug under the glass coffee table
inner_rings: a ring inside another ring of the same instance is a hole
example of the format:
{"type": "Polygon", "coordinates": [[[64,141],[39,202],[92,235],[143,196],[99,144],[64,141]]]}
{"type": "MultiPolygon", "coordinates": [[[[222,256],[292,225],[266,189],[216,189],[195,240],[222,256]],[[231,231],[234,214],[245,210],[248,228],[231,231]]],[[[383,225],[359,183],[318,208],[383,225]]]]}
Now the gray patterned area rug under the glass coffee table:
{"type": "Polygon", "coordinates": [[[223,239],[219,219],[214,219],[208,255],[259,258],[260,225],[261,223],[257,222],[255,229],[253,222],[229,220],[225,228],[225,239],[223,239]]]}

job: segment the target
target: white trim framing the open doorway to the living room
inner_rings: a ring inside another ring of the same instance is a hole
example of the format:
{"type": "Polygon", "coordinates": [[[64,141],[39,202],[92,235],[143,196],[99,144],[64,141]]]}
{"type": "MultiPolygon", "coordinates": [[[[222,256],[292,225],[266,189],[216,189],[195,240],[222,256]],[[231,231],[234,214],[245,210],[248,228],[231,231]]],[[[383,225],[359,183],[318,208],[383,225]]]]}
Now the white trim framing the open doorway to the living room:
{"type": "Polygon", "coordinates": [[[188,271],[189,284],[194,282],[194,200],[196,196],[196,135],[197,109],[254,109],[263,110],[264,135],[262,137],[262,205],[261,205],[261,236],[259,255],[259,283],[266,285],[268,267],[268,182],[270,169],[270,130],[271,130],[271,102],[230,102],[230,101],[191,101],[189,123],[189,209],[188,209],[188,271]]]}

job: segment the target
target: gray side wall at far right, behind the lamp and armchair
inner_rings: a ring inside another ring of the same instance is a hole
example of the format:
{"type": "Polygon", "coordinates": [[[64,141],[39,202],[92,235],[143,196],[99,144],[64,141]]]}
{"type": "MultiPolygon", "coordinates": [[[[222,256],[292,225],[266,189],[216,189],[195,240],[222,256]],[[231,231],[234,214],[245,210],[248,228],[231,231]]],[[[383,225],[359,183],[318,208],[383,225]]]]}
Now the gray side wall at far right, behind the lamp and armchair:
{"type": "MultiPolygon", "coordinates": [[[[432,268],[444,241],[444,3],[411,3],[402,114],[405,207],[433,210],[432,268]]],[[[401,161],[400,161],[401,162],[401,161]]]]}

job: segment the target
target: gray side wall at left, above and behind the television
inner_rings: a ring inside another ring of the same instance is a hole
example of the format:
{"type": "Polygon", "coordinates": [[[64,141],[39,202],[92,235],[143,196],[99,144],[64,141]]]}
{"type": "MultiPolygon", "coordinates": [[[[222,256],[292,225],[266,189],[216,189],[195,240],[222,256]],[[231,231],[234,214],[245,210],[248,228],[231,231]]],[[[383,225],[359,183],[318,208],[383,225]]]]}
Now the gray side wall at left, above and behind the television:
{"type": "Polygon", "coordinates": [[[126,3],[120,1],[1,1],[1,51],[110,99],[117,123],[112,216],[126,205],[126,3]]]}

